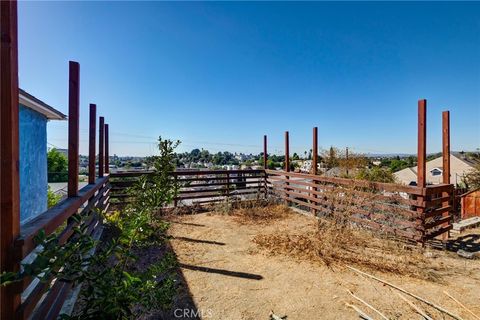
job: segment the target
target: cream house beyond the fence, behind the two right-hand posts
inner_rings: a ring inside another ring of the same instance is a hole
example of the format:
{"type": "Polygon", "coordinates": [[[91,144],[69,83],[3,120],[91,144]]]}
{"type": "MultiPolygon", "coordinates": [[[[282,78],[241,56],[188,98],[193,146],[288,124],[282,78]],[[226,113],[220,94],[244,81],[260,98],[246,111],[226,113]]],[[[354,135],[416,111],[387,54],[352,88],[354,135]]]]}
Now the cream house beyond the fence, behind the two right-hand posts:
{"type": "MultiPolygon", "coordinates": [[[[450,154],[450,182],[460,184],[468,174],[473,170],[475,162],[463,158],[459,153],[450,154]]],[[[443,183],[443,158],[438,157],[430,160],[427,167],[427,184],[443,183]]],[[[405,185],[417,185],[417,167],[405,168],[394,173],[396,180],[405,185]]]]}

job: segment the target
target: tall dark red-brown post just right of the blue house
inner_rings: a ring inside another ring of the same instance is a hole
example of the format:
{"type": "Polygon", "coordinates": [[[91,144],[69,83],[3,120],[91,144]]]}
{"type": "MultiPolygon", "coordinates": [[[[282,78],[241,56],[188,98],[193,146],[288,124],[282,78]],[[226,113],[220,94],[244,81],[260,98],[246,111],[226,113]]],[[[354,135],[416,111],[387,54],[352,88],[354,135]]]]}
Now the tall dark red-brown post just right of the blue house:
{"type": "Polygon", "coordinates": [[[68,80],[68,196],[78,195],[78,148],[80,132],[80,65],[69,62],[68,80]]]}

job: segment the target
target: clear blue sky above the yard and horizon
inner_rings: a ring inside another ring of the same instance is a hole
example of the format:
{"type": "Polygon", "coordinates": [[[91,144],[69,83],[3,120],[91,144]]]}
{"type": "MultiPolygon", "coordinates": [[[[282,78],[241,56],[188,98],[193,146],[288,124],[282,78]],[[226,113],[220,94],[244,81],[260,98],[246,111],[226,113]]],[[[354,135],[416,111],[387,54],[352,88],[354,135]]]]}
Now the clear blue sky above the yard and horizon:
{"type": "MultiPolygon", "coordinates": [[[[68,110],[68,61],[81,65],[80,151],[88,104],[110,124],[111,154],[292,152],[319,145],[428,152],[451,111],[453,150],[480,147],[480,3],[21,2],[20,86],[68,110]]],[[[48,141],[66,147],[67,122],[48,141]]]]}

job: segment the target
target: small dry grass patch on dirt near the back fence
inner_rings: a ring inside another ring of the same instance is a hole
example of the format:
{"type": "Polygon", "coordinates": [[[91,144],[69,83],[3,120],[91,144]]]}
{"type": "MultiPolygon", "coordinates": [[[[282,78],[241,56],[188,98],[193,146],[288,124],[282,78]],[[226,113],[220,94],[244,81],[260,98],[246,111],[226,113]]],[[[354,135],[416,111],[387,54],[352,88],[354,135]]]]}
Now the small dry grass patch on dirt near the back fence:
{"type": "Polygon", "coordinates": [[[276,204],[267,206],[248,206],[238,208],[232,212],[235,220],[242,224],[263,224],[274,220],[284,219],[291,210],[286,205],[276,204]]]}

